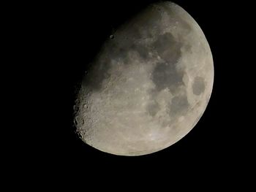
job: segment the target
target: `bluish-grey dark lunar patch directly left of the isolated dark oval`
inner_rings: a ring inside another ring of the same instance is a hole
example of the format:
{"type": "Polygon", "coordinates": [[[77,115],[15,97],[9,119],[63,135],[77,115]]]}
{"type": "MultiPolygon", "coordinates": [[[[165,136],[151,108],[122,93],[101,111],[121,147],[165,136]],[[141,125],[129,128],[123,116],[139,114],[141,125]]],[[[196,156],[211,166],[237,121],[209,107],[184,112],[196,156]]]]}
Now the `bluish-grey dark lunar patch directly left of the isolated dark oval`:
{"type": "Polygon", "coordinates": [[[176,93],[177,88],[184,85],[183,71],[178,71],[175,64],[159,63],[151,74],[151,80],[155,84],[157,91],[169,88],[172,93],[176,93]]]}

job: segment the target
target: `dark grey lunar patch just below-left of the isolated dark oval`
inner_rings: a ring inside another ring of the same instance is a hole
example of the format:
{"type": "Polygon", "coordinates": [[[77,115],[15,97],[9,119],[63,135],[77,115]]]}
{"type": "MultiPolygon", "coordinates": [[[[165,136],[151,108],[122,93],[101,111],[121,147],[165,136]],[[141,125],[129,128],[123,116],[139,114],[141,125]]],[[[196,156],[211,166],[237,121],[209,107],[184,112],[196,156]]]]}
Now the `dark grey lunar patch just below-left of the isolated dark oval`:
{"type": "Polygon", "coordinates": [[[175,96],[170,103],[169,115],[185,115],[189,108],[189,102],[187,96],[175,96]]]}

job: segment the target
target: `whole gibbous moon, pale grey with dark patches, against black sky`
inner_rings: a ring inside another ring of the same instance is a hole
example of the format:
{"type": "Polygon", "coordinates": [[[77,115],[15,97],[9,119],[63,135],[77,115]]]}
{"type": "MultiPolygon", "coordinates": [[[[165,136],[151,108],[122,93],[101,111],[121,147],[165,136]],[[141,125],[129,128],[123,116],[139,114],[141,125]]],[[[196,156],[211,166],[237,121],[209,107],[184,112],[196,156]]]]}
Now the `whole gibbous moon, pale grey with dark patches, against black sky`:
{"type": "Polygon", "coordinates": [[[151,4],[102,45],[81,82],[75,126],[83,142],[103,152],[154,153],[192,130],[213,82],[200,26],[177,4],[151,4]]]}

